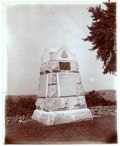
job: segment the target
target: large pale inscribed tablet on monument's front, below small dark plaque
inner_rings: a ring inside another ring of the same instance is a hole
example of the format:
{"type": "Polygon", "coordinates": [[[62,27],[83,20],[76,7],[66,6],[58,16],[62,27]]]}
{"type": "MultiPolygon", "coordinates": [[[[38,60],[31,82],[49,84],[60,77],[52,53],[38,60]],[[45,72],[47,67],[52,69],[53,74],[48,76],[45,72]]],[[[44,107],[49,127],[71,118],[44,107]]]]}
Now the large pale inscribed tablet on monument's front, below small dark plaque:
{"type": "Polygon", "coordinates": [[[59,74],[60,96],[77,96],[74,74],[59,74]]]}

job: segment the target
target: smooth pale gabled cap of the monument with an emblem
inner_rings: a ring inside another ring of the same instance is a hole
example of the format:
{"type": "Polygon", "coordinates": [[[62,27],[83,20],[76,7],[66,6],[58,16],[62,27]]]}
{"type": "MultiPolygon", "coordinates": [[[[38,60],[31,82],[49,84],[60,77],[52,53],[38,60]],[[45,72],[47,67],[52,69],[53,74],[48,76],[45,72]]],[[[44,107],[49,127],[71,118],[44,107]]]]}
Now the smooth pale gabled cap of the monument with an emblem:
{"type": "Polygon", "coordinates": [[[76,61],[76,54],[71,53],[65,46],[62,46],[56,52],[50,52],[48,49],[45,49],[43,57],[41,57],[41,64],[50,60],[76,61]]]}

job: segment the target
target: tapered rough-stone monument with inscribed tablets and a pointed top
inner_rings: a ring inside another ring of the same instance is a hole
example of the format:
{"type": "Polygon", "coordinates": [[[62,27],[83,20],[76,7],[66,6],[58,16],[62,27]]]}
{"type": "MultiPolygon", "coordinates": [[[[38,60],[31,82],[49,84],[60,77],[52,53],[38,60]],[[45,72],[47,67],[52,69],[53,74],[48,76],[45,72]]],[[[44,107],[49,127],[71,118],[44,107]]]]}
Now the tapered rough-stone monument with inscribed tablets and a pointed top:
{"type": "Polygon", "coordinates": [[[45,49],[35,104],[32,119],[45,125],[93,119],[86,105],[76,54],[66,47],[56,52],[45,49]]]}

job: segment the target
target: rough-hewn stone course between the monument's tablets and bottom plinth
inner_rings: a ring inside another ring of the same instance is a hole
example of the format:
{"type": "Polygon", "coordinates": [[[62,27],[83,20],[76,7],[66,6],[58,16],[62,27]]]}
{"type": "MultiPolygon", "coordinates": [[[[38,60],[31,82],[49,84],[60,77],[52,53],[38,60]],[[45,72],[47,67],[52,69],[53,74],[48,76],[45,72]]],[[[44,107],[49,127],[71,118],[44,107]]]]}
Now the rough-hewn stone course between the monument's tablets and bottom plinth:
{"type": "Polygon", "coordinates": [[[38,98],[36,109],[42,111],[62,111],[87,108],[85,97],[38,98]]]}

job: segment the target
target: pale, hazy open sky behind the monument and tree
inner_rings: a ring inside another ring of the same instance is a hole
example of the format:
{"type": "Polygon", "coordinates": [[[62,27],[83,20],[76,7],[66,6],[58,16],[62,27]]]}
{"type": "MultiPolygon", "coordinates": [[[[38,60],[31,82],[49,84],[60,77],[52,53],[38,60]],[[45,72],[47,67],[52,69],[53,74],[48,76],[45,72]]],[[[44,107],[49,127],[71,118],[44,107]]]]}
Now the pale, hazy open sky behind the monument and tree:
{"type": "Polygon", "coordinates": [[[52,52],[62,46],[77,54],[84,91],[117,89],[117,77],[102,73],[103,62],[89,51],[91,43],[82,40],[92,24],[87,8],[98,4],[4,3],[3,92],[37,94],[45,48],[52,52]]]}

